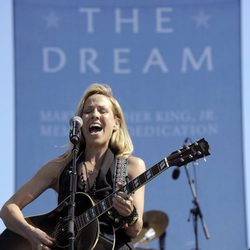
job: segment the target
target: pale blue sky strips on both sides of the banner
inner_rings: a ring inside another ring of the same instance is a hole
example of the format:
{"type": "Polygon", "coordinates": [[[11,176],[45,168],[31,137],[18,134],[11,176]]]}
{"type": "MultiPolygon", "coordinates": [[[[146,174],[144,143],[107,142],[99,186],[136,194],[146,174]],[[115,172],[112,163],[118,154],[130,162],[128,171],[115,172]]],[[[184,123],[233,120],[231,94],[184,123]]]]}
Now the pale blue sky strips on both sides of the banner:
{"type": "MultiPolygon", "coordinates": [[[[246,186],[246,211],[250,211],[250,1],[241,1],[242,14],[242,100],[243,100],[243,138],[246,186]],[[247,115],[248,114],[248,115],[247,115]]],[[[0,1],[0,113],[1,113],[1,195],[0,207],[14,192],[14,65],[12,0],[0,1]]],[[[248,247],[250,247],[250,212],[248,222],[248,247]]],[[[0,220],[0,232],[4,229],[0,220]]]]}

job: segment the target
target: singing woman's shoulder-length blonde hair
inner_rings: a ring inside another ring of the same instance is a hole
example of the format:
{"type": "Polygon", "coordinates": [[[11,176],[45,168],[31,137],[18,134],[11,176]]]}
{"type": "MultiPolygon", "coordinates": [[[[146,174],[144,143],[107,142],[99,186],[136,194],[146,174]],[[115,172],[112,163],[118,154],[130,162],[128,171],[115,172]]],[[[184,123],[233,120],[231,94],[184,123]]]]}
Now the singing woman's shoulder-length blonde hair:
{"type": "MultiPolygon", "coordinates": [[[[114,98],[112,89],[110,88],[110,86],[106,84],[100,84],[100,83],[91,84],[84,92],[77,106],[75,115],[82,117],[86,100],[90,96],[97,95],[97,94],[106,96],[110,100],[112,104],[113,114],[116,118],[118,118],[119,123],[120,123],[119,129],[114,131],[111,136],[110,143],[109,143],[110,149],[117,156],[126,157],[126,156],[131,155],[134,149],[133,143],[132,143],[132,140],[130,138],[130,135],[127,129],[123,111],[118,101],[114,98]]],[[[80,148],[85,148],[85,140],[82,135],[80,137],[80,148]]],[[[69,150],[62,156],[62,158],[66,160],[66,159],[71,158],[71,156],[72,156],[72,153],[71,153],[71,150],[69,150]]]]}

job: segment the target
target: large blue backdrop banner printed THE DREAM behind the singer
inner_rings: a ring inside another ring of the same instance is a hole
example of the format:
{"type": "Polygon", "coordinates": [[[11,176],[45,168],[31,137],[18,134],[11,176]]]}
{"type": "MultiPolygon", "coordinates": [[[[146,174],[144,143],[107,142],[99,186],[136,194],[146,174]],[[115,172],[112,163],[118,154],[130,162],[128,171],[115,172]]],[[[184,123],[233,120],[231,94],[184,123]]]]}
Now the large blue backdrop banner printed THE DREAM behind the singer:
{"type": "MultiPolygon", "coordinates": [[[[211,235],[199,220],[199,249],[246,249],[239,0],[18,0],[14,19],[16,188],[66,150],[86,87],[107,83],[148,168],[186,139],[208,140],[207,162],[188,164],[211,235]]],[[[194,249],[192,193],[184,169],[172,171],[147,184],[145,211],[168,215],[166,249],[194,249]]]]}

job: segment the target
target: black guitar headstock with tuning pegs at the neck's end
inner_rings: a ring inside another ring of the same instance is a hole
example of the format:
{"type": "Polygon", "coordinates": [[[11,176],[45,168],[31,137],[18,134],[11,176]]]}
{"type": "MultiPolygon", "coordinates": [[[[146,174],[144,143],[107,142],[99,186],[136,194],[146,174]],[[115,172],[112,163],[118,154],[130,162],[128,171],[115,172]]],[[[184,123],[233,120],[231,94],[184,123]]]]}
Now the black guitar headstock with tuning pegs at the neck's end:
{"type": "Polygon", "coordinates": [[[169,155],[167,160],[169,166],[180,167],[207,155],[210,155],[209,144],[204,138],[202,138],[199,141],[185,145],[179,150],[174,151],[169,155]]]}

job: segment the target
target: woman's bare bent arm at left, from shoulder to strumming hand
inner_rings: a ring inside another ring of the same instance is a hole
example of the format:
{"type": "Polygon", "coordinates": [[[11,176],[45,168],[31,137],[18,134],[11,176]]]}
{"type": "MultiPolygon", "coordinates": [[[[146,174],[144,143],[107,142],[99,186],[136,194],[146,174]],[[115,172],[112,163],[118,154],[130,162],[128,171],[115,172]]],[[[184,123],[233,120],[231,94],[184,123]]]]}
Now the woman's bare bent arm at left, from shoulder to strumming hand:
{"type": "MultiPolygon", "coordinates": [[[[4,204],[0,216],[7,228],[28,239],[32,249],[39,244],[50,246],[53,238],[30,225],[24,218],[22,209],[36,199],[46,189],[53,187],[59,174],[59,167],[53,161],[42,167],[26,184],[4,204]]],[[[44,248],[49,249],[49,248],[44,248]]]]}

